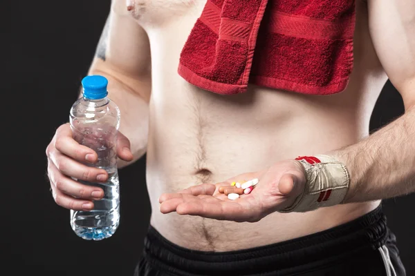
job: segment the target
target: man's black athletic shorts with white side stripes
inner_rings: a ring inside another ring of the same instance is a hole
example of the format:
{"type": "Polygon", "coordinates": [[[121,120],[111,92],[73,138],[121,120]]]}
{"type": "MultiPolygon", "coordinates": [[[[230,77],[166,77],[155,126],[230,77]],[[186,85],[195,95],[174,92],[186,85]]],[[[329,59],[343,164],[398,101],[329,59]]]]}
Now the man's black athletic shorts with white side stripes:
{"type": "Polygon", "coordinates": [[[150,226],[135,275],[404,276],[405,268],[378,207],[320,233],[225,253],[182,248],[150,226]]]}

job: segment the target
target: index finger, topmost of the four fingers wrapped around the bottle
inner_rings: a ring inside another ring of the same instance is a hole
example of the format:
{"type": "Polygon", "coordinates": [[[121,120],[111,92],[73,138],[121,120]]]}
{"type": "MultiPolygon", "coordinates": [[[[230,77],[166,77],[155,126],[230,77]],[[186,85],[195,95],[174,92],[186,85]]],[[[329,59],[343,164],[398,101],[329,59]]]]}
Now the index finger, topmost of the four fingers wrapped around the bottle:
{"type": "Polygon", "coordinates": [[[55,140],[55,148],[64,155],[77,161],[95,163],[98,161],[98,155],[95,150],[87,146],[80,145],[72,138],[72,132],[68,134],[67,130],[61,130],[55,140]]]}

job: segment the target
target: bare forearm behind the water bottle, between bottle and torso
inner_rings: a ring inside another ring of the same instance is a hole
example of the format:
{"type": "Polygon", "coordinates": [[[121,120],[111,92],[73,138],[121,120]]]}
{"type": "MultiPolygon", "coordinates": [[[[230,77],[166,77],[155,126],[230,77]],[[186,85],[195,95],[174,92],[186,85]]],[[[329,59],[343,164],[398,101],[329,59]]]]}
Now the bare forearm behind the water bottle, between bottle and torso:
{"type": "Polygon", "coordinates": [[[108,97],[120,108],[120,132],[131,143],[133,161],[119,160],[118,167],[127,166],[142,157],[147,150],[149,125],[149,96],[151,76],[129,81],[100,66],[92,66],[89,75],[102,75],[109,81],[108,97]]]}

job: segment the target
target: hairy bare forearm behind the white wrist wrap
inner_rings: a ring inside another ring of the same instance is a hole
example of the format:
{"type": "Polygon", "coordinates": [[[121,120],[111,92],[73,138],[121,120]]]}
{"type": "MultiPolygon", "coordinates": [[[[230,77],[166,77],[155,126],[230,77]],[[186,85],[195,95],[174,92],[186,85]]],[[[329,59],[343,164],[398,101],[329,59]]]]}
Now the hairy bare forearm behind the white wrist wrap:
{"type": "Polygon", "coordinates": [[[357,144],[329,152],[351,178],[345,203],[415,191],[415,108],[357,144]]]}

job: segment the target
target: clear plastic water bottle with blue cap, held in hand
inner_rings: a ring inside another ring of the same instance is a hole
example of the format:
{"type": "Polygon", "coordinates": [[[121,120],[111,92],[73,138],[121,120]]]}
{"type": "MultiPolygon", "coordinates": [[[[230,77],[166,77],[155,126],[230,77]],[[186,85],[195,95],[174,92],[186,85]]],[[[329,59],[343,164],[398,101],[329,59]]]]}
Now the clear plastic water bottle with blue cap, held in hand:
{"type": "Polygon", "coordinates": [[[106,183],[80,181],[104,190],[104,197],[93,201],[91,211],[71,210],[71,227],[83,239],[101,240],[111,237],[120,224],[120,188],[118,182],[116,137],[120,126],[120,110],[107,97],[108,81],[100,75],[82,79],[82,96],[73,103],[70,123],[74,139],[97,152],[96,164],[107,170],[106,183]]]}

